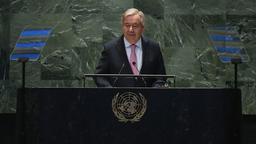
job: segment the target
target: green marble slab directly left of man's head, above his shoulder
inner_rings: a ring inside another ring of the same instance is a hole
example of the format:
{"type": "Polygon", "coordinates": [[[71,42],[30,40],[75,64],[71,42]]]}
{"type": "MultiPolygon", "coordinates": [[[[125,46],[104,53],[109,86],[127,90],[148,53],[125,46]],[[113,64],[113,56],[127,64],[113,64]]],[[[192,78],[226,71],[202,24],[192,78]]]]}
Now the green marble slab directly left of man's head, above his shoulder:
{"type": "Polygon", "coordinates": [[[122,14],[103,14],[103,44],[123,34],[122,14]]]}

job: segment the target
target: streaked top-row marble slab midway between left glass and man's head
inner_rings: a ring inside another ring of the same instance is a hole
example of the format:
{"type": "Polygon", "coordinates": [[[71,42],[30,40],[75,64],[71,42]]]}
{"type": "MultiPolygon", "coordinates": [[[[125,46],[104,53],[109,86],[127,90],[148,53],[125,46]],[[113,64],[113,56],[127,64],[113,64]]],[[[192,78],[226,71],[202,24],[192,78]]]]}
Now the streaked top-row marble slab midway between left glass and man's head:
{"type": "Polygon", "coordinates": [[[72,14],[102,14],[103,0],[71,0],[70,13],[72,14]]]}

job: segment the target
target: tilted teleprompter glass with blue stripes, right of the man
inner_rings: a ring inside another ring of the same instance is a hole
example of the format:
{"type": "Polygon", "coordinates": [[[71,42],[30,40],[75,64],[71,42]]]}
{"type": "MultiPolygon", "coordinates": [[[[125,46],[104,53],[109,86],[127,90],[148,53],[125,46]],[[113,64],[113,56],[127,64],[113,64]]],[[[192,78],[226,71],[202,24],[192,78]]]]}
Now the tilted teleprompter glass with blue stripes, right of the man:
{"type": "Polygon", "coordinates": [[[209,35],[222,62],[231,62],[231,58],[249,61],[248,54],[234,27],[208,28],[209,35]]]}

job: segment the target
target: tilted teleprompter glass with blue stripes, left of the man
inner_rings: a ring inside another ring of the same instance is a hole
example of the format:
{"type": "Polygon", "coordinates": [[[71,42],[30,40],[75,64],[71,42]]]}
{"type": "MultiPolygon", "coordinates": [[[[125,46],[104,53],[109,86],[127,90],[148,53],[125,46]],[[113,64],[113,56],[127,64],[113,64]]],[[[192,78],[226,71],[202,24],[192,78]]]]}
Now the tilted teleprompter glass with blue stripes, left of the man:
{"type": "Polygon", "coordinates": [[[19,57],[29,57],[37,60],[52,31],[52,27],[25,26],[10,59],[18,60],[19,57]]]}

